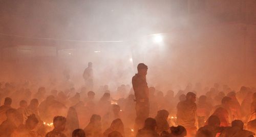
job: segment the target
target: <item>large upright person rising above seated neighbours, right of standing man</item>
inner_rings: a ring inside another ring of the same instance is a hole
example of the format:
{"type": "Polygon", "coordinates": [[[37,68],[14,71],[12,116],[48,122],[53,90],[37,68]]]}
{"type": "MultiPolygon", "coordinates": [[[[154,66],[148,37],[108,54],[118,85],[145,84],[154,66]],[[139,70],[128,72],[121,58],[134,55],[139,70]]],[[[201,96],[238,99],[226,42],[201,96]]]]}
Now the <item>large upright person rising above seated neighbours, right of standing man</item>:
{"type": "Polygon", "coordinates": [[[195,125],[197,104],[195,102],[196,94],[188,92],[186,100],[177,105],[177,124],[186,128],[187,136],[194,136],[197,130],[195,125]]]}

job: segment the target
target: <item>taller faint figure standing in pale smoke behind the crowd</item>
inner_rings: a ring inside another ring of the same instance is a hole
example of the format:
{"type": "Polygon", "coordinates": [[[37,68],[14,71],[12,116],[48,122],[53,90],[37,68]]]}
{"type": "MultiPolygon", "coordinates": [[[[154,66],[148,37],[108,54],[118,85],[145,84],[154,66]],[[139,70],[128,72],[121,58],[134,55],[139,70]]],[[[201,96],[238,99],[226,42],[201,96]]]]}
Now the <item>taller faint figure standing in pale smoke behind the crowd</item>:
{"type": "Polygon", "coordinates": [[[84,83],[89,90],[93,90],[93,63],[89,62],[82,75],[84,83]]]}

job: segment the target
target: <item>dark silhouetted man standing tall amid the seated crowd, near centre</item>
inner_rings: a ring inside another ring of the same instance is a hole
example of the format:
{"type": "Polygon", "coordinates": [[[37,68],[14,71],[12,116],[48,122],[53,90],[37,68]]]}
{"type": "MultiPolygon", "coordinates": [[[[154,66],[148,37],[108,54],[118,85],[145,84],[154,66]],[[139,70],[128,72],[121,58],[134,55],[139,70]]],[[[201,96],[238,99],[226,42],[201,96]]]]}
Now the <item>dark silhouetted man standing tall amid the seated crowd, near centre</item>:
{"type": "Polygon", "coordinates": [[[146,83],[147,66],[144,63],[139,63],[137,66],[138,74],[135,74],[132,79],[135,101],[136,101],[136,119],[135,131],[143,127],[144,121],[148,118],[149,107],[149,89],[146,83]]]}

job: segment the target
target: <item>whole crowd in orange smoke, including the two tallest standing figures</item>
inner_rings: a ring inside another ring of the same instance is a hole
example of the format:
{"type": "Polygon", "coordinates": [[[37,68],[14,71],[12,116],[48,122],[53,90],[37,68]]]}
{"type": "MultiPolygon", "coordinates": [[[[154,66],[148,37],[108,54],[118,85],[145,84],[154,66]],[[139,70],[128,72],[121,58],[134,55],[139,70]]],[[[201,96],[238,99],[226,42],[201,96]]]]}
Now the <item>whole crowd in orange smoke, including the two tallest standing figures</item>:
{"type": "Polygon", "coordinates": [[[132,86],[120,85],[116,91],[108,85],[94,91],[92,63],[83,73],[86,86],[79,89],[1,82],[0,137],[255,135],[256,88],[236,91],[197,83],[177,92],[161,91],[148,87],[145,64],[137,69],[132,86]]]}

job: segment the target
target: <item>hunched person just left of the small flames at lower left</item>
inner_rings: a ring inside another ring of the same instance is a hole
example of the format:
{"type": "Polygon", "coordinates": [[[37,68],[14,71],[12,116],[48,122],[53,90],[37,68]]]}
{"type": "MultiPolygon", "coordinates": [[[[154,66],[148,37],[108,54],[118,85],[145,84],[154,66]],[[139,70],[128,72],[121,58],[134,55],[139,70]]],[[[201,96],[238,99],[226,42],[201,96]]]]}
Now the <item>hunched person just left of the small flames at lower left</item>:
{"type": "Polygon", "coordinates": [[[28,119],[26,120],[25,125],[20,125],[13,133],[12,137],[36,137],[37,132],[33,131],[33,129],[37,126],[38,120],[35,117],[35,115],[30,115],[28,119]]]}

